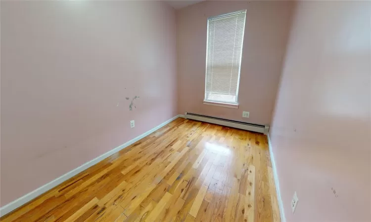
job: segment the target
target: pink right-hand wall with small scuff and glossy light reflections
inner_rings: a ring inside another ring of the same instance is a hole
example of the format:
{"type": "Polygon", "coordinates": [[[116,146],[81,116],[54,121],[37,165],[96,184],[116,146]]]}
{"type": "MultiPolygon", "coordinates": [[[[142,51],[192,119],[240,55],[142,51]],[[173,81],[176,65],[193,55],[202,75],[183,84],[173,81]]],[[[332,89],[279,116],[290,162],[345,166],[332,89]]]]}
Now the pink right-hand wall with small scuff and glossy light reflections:
{"type": "Polygon", "coordinates": [[[371,221],[370,15],[297,3],[270,132],[287,222],[371,221]]]}

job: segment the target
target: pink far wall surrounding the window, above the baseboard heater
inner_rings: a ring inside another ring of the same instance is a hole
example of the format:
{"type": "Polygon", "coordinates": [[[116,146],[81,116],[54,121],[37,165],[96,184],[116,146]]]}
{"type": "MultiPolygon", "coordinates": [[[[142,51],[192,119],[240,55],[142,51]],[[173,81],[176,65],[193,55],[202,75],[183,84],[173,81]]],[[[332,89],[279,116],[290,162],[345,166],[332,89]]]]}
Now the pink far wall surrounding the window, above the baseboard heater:
{"type": "Polygon", "coordinates": [[[292,2],[203,1],[177,10],[178,112],[271,123],[292,2]],[[238,109],[203,105],[207,18],[246,9],[238,109]],[[242,118],[249,111],[250,118],[242,118]]]}

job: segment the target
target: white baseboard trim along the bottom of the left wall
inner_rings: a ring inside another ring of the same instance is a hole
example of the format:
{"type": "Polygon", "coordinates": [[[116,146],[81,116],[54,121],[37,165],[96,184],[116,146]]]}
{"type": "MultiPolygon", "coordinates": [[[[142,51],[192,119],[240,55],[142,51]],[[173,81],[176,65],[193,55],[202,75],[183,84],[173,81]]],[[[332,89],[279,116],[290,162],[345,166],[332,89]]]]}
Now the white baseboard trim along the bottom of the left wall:
{"type": "Polygon", "coordinates": [[[108,156],[115,154],[116,152],[120,151],[123,148],[126,148],[135,142],[139,141],[140,139],[148,136],[149,134],[153,133],[154,131],[160,129],[161,127],[165,126],[166,124],[170,123],[174,119],[178,118],[179,115],[174,116],[173,118],[161,123],[160,125],[154,127],[151,130],[148,130],[147,132],[139,135],[138,137],[126,142],[125,144],[122,144],[118,146],[117,148],[111,149],[108,152],[104,153],[103,155],[100,155],[96,157],[95,159],[84,163],[83,165],[79,166],[78,168],[58,177],[57,179],[47,183],[46,185],[40,186],[39,188],[27,193],[26,195],[6,204],[5,206],[0,208],[0,217],[10,213],[11,211],[17,209],[18,207],[24,205],[25,203],[35,199],[36,197],[40,196],[41,194],[45,193],[46,191],[50,190],[51,188],[60,185],[61,183],[67,181],[68,179],[72,178],[73,176],[76,176],[77,174],[81,173],[82,171],[88,169],[89,167],[97,164],[98,162],[102,161],[103,159],[107,158],[108,156]]]}

